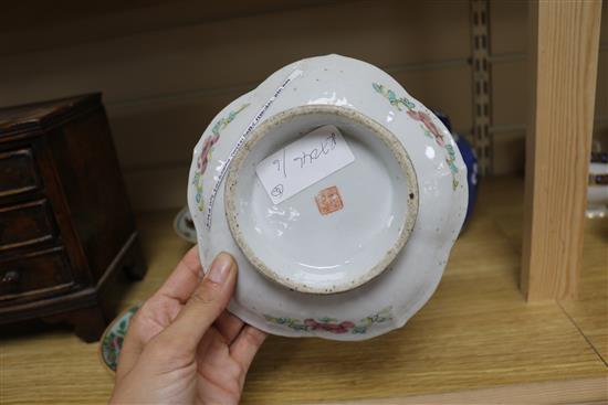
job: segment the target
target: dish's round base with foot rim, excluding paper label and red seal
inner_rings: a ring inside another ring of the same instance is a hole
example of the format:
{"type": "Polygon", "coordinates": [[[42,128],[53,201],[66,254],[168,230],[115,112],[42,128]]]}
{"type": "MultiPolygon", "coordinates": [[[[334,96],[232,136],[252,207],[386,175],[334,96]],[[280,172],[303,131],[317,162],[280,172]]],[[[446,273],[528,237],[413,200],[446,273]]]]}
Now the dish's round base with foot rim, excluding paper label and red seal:
{"type": "Polygon", "coordinates": [[[418,183],[407,151],[350,108],[307,105],[275,114],[231,164],[224,201],[232,236],[262,274],[294,291],[335,294],[369,281],[395,259],[416,222],[418,183]],[[340,128],[355,161],[274,205],[256,163],[327,124],[340,128]],[[343,207],[322,214],[315,196],[328,189],[337,190],[343,207]]]}

